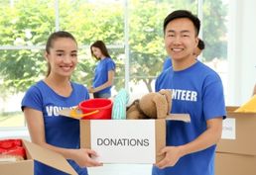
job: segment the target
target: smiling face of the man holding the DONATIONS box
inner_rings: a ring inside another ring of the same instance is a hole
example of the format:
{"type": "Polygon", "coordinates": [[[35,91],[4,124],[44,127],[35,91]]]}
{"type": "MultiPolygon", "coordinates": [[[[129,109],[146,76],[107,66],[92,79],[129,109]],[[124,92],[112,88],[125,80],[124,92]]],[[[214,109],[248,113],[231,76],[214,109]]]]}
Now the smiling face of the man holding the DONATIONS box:
{"type": "Polygon", "coordinates": [[[198,43],[192,21],[178,18],[171,21],[165,30],[165,46],[175,62],[194,61],[193,51],[198,43]]]}

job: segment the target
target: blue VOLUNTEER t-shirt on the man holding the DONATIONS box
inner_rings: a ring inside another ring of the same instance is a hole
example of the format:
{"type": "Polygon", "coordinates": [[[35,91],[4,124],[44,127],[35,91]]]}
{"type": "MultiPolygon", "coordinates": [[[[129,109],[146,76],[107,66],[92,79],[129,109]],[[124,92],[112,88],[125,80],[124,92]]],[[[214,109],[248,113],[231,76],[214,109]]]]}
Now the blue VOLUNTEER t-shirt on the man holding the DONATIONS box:
{"type": "MultiPolygon", "coordinates": [[[[163,71],[156,80],[156,91],[171,89],[171,113],[190,114],[191,123],[167,122],[167,145],[191,142],[206,130],[206,121],[225,117],[223,87],[220,77],[212,69],[196,61],[191,67],[163,71]]],[[[182,157],[174,167],[158,169],[153,175],[213,175],[215,145],[182,157]]]]}

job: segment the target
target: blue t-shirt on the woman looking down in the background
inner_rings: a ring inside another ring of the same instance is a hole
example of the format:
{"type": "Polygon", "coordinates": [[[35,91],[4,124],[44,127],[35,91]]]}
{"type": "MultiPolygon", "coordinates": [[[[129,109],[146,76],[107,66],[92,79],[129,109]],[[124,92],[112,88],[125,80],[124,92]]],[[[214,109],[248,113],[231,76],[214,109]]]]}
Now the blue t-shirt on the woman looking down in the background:
{"type": "MultiPolygon", "coordinates": [[[[108,80],[108,71],[115,70],[115,62],[110,57],[105,57],[104,59],[99,60],[95,71],[93,79],[93,88],[98,87],[108,80]]],[[[111,86],[98,91],[98,94],[111,94],[111,86]]]]}

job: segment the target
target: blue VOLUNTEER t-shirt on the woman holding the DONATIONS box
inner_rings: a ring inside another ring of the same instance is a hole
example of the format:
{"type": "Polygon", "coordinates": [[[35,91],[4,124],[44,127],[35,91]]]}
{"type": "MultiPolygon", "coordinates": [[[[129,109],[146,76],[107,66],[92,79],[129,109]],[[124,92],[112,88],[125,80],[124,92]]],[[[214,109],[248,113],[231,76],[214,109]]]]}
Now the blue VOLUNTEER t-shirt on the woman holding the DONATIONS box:
{"type": "MultiPolygon", "coordinates": [[[[58,112],[73,108],[79,102],[89,99],[87,89],[71,82],[69,97],[58,95],[43,80],[32,86],[22,100],[22,109],[32,108],[41,111],[44,116],[46,142],[64,148],[79,148],[79,121],[59,116],[58,112]]],[[[79,175],[87,175],[86,168],[80,168],[74,161],[69,164],[79,175]]],[[[64,175],[64,172],[40,162],[35,164],[35,175],[64,175]]]]}

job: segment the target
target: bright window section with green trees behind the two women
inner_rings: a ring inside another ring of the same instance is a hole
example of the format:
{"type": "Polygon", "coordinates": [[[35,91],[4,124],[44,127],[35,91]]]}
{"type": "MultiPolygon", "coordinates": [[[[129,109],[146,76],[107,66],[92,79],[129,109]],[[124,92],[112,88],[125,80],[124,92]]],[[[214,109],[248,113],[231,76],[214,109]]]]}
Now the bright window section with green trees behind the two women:
{"type": "Polygon", "coordinates": [[[73,34],[79,44],[74,81],[90,86],[95,60],[89,45],[107,44],[117,64],[115,90],[124,84],[124,4],[122,1],[17,0],[1,6],[0,127],[23,127],[20,109],[24,92],[44,78],[44,48],[57,30],[73,34]]]}

